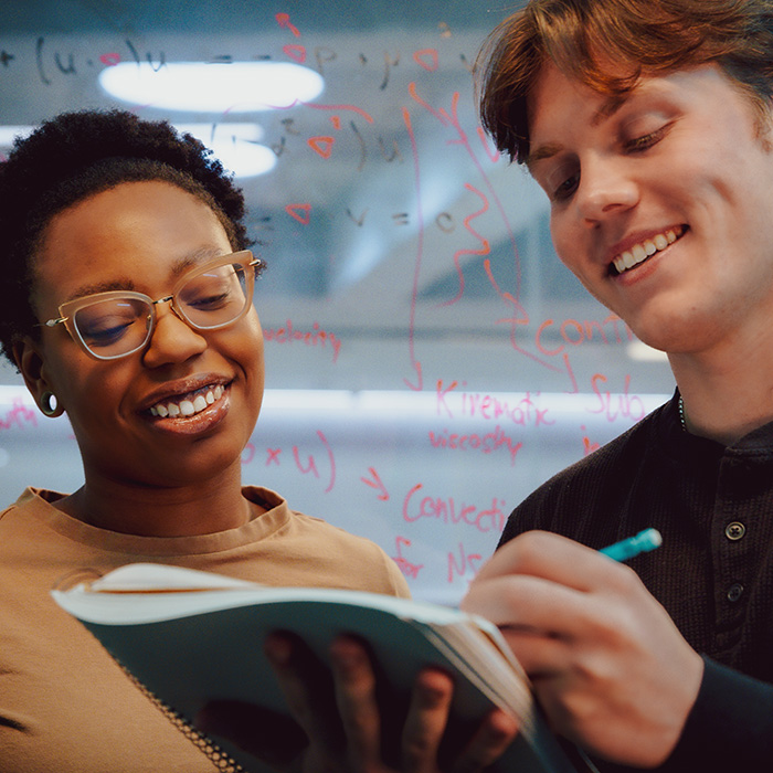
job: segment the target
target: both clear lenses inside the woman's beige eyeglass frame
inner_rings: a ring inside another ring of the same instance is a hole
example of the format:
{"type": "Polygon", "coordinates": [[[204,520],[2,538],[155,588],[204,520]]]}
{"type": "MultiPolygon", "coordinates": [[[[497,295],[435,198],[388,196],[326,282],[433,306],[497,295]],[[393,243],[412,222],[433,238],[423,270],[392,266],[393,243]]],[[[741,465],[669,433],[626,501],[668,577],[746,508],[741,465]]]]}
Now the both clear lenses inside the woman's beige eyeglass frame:
{"type": "MultiPolygon", "coordinates": [[[[247,297],[244,267],[226,264],[191,276],[177,290],[172,304],[191,327],[213,329],[237,319],[247,297]]],[[[152,306],[151,301],[133,296],[95,300],[75,311],[73,324],[94,354],[119,357],[145,346],[151,332],[152,306]]]]}

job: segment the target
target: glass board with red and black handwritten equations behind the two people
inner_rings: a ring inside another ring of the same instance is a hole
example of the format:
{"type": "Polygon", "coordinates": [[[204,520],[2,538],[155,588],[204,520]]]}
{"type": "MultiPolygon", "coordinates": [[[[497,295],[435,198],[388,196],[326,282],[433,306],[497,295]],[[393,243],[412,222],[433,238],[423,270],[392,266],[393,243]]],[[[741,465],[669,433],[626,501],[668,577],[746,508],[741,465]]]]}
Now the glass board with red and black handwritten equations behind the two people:
{"type": "MultiPolygon", "coordinates": [[[[674,389],[560,264],[544,195],[480,130],[473,63],[519,4],[0,4],[0,160],[84,107],[211,147],[268,263],[245,483],[377,540],[447,603],[520,499],[674,389]]],[[[77,488],[66,417],[45,420],[10,364],[0,380],[3,501],[77,488]]]]}

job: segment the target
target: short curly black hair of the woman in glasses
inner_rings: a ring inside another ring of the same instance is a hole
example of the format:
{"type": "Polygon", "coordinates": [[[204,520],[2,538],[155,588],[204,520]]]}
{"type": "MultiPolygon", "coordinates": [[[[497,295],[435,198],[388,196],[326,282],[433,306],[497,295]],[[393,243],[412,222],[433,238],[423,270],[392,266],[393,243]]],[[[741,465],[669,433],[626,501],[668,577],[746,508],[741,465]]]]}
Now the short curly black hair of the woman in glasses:
{"type": "Polygon", "coordinates": [[[124,110],[63,113],[17,139],[0,163],[0,345],[11,362],[14,343],[38,336],[34,256],[51,219],[95,193],[141,180],[163,180],[197,195],[219,216],[234,251],[250,246],[242,191],[198,139],[124,110]]]}

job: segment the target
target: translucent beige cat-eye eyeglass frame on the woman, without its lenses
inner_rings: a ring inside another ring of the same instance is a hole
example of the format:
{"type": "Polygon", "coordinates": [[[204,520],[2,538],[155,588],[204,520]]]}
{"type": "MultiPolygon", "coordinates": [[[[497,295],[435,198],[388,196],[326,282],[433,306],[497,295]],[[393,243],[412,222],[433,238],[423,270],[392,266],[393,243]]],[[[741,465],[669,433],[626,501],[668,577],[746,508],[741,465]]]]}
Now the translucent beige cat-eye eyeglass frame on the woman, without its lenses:
{"type": "Polygon", "coordinates": [[[147,346],[153,330],[156,329],[156,306],[159,304],[170,304],[174,316],[184,321],[193,330],[220,330],[221,328],[234,325],[250,309],[255,287],[255,278],[264,266],[265,263],[260,257],[254,257],[250,250],[242,250],[230,255],[221,255],[213,261],[209,261],[191,268],[189,272],[186,272],[186,274],[183,274],[174,284],[172,292],[169,295],[158,298],[157,300],[153,300],[150,296],[145,295],[145,293],[137,293],[135,290],[107,290],[106,293],[94,293],[93,295],[85,295],[81,298],[74,298],[73,300],[67,300],[61,304],[59,307],[60,316],[49,319],[42,325],[50,328],[56,327],[57,325],[64,325],[65,329],[70,333],[70,337],[77,342],[89,357],[97,360],[118,360],[124,357],[128,357],[129,354],[134,354],[136,351],[139,351],[147,346]],[[192,279],[202,276],[208,272],[212,272],[213,269],[227,265],[239,266],[244,272],[244,305],[242,306],[241,310],[234,317],[214,325],[201,325],[193,321],[190,316],[186,314],[184,305],[179,300],[180,292],[192,279]],[[103,304],[107,300],[120,299],[135,300],[147,306],[148,318],[146,321],[147,329],[145,337],[140,343],[131,346],[127,351],[120,351],[116,354],[99,354],[94,351],[88,343],[86,343],[86,340],[77,327],[76,315],[78,311],[82,311],[91,306],[103,304]]]}

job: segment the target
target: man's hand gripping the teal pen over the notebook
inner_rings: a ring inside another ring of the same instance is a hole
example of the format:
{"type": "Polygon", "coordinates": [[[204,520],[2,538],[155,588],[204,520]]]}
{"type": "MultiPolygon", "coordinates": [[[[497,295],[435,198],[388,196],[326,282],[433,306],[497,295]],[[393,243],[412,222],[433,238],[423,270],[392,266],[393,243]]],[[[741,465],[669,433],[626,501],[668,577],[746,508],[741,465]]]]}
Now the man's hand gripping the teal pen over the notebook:
{"type": "Polygon", "coordinates": [[[557,732],[628,765],[671,753],[703,663],[628,566],[526,532],[481,568],[462,608],[501,628],[557,732]]]}

